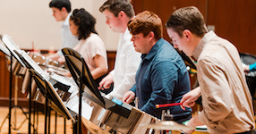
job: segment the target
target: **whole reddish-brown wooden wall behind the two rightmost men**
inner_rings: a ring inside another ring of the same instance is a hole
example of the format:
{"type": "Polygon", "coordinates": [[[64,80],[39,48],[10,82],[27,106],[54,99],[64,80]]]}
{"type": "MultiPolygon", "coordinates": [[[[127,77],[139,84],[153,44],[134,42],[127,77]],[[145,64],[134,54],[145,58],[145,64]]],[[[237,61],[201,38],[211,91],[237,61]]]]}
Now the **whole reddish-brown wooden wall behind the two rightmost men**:
{"type": "MultiPolygon", "coordinates": [[[[241,53],[256,54],[255,0],[141,0],[132,1],[136,13],[149,10],[157,13],[163,24],[175,9],[197,6],[207,25],[214,26],[218,36],[235,44],[241,53]],[[160,7],[160,8],[159,8],[160,7]]],[[[169,40],[164,29],[164,38],[169,40]]]]}

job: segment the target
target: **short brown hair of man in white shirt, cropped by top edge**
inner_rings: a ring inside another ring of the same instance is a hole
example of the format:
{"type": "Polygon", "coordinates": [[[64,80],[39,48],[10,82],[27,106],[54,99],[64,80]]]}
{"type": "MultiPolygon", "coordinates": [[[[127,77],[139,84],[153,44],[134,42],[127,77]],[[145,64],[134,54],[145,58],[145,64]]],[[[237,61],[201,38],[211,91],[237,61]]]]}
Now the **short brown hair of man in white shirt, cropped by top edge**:
{"type": "Polygon", "coordinates": [[[113,13],[115,17],[117,17],[118,13],[121,11],[126,13],[129,18],[135,15],[133,6],[129,0],[107,0],[99,7],[99,11],[103,13],[106,9],[113,13]]]}

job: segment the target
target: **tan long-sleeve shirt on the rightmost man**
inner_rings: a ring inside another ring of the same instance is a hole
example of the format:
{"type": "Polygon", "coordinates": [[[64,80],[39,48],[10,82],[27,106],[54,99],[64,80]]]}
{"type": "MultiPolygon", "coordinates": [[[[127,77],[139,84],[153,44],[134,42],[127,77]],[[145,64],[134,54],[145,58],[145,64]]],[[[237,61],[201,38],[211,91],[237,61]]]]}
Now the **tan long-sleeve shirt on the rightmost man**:
{"type": "Polygon", "coordinates": [[[203,110],[209,133],[239,133],[255,128],[252,97],[234,45],[209,31],[193,51],[197,59],[203,110]]]}

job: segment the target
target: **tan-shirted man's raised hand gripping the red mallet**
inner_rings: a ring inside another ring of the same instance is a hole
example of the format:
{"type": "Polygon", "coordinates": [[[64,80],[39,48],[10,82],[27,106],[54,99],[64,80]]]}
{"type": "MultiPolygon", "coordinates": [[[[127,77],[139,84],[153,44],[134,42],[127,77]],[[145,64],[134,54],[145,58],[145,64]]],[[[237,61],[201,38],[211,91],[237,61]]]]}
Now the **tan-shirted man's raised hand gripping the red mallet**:
{"type": "Polygon", "coordinates": [[[192,107],[195,105],[195,101],[198,99],[198,97],[201,96],[201,88],[194,88],[190,92],[183,95],[183,98],[181,99],[181,105],[182,109],[185,110],[184,107],[192,107]]]}

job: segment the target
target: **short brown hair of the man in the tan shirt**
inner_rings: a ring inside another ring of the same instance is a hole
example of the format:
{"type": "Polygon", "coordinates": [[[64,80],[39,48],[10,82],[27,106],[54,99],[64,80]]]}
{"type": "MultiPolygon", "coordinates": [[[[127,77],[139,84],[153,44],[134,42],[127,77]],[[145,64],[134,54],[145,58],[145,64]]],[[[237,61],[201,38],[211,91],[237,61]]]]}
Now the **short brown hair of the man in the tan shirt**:
{"type": "Polygon", "coordinates": [[[198,37],[203,37],[208,31],[201,12],[195,6],[177,9],[166,21],[166,28],[174,29],[180,37],[183,37],[184,29],[189,29],[198,37]]]}

